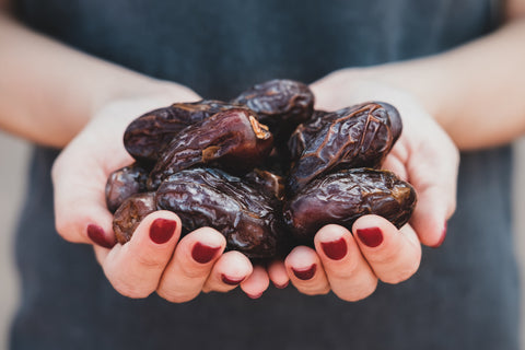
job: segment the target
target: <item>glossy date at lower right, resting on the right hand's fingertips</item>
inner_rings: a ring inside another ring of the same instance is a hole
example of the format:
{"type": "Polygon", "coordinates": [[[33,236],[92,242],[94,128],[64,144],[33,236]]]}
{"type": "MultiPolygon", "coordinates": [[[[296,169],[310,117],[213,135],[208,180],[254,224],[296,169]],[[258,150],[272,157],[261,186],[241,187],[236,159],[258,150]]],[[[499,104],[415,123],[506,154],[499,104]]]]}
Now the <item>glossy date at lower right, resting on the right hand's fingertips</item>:
{"type": "Polygon", "coordinates": [[[315,233],[335,223],[349,230],[365,214],[377,214],[398,229],[416,207],[416,191],[388,171],[341,170],[314,179],[284,207],[284,222],[301,242],[313,243],[315,233]]]}

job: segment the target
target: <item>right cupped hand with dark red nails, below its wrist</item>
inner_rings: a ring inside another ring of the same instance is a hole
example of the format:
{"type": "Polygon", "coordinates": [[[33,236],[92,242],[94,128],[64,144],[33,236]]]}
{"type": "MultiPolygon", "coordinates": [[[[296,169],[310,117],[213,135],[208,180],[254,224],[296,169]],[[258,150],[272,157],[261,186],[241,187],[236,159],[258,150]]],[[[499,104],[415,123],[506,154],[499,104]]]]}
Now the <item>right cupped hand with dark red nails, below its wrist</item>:
{"type": "Polygon", "coordinates": [[[335,110],[366,101],[383,101],[399,109],[402,133],[384,168],[408,180],[418,194],[409,224],[397,230],[377,215],[360,218],[352,232],[327,225],[315,236],[315,250],[295,247],[284,261],[268,269],[273,283],[289,277],[305,294],[334,291],[358,301],[375,290],[377,280],[399,283],[419,268],[421,243],[438,247],[455,210],[458,151],[434,119],[409,94],[355,70],[331,73],[313,83],[316,108],[335,110]]]}

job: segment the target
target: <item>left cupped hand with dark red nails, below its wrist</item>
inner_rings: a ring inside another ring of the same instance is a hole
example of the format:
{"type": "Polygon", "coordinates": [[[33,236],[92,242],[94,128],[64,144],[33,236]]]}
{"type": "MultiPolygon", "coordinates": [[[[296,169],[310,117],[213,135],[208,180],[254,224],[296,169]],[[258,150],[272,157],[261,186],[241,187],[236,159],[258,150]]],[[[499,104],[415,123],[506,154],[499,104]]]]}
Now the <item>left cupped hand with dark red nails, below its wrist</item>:
{"type": "Polygon", "coordinates": [[[133,162],[122,144],[127,125],[148,110],[197,100],[194,92],[177,88],[108,103],[54,164],[58,233],[69,242],[92,244],[107,279],[124,295],[156,292],[171,302],[186,302],[201,291],[226,292],[238,284],[258,296],[269,284],[266,270],[254,268],[243,254],[224,253],[225,238],[218,231],[202,228],[180,238],[180,220],[170,211],[149,214],[128,243],[116,244],[104,189],[113,171],[133,162]]]}

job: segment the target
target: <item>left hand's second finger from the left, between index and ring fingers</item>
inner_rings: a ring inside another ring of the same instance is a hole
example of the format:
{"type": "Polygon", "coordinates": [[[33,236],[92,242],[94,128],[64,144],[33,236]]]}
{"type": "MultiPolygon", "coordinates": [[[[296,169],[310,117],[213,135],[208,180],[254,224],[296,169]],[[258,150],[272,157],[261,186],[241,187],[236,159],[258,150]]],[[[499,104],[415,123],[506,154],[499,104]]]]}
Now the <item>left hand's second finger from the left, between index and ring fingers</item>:
{"type": "Polygon", "coordinates": [[[187,302],[199,295],[225,246],[224,236],[210,228],[184,236],[164,270],[156,293],[173,303],[187,302]]]}

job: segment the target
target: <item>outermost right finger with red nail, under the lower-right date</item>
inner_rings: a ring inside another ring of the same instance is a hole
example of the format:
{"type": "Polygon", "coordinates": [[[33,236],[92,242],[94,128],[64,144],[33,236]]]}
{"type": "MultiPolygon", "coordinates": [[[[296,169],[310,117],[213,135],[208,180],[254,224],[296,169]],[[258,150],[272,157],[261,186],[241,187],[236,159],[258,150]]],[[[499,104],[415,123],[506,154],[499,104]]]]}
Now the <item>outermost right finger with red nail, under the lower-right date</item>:
{"type": "Polygon", "coordinates": [[[364,215],[352,229],[362,255],[380,280],[399,283],[416,273],[421,244],[410,225],[398,231],[384,218],[364,215]]]}

